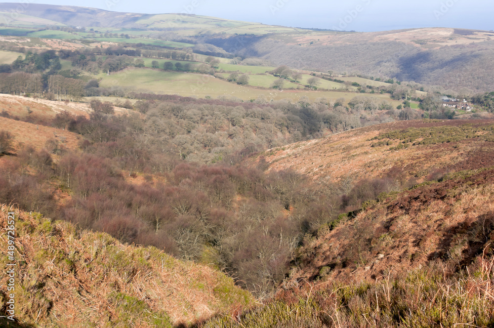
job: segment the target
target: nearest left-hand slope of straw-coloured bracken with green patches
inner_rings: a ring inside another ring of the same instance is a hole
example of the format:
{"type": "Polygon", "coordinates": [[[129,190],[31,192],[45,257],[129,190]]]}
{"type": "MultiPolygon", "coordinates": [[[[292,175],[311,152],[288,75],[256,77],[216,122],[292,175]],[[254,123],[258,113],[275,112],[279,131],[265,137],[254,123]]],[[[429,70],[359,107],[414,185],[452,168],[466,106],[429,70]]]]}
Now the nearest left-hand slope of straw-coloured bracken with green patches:
{"type": "MultiPolygon", "coordinates": [[[[0,222],[6,225],[2,205],[0,222]]],[[[15,211],[16,318],[30,327],[171,327],[252,303],[209,267],[15,211]]],[[[1,241],[6,252],[5,237],[1,241]]],[[[7,258],[2,258],[5,267],[7,258]]],[[[0,280],[5,304],[6,276],[0,280]]],[[[3,327],[3,326],[2,326],[3,327]]]]}

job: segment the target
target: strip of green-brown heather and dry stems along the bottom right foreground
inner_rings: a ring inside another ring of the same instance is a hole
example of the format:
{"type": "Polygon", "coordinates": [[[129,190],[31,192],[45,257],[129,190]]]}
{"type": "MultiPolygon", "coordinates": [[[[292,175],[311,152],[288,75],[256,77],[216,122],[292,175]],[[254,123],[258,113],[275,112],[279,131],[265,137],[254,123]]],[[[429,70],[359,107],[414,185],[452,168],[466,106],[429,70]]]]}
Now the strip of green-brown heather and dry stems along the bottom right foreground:
{"type": "Polygon", "coordinates": [[[494,259],[480,256],[452,274],[433,262],[407,276],[386,274],[376,283],[316,283],[237,318],[204,328],[269,327],[493,327],[494,259]]]}

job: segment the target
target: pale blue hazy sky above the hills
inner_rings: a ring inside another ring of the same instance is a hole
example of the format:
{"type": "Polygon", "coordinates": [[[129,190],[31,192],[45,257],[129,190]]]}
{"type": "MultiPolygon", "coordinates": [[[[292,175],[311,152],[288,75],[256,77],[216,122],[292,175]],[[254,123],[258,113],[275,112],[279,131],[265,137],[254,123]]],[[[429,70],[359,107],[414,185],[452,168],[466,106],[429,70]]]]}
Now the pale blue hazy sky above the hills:
{"type": "Polygon", "coordinates": [[[19,0],[140,13],[187,12],[292,27],[384,31],[415,27],[493,30],[493,0],[19,0]]]}

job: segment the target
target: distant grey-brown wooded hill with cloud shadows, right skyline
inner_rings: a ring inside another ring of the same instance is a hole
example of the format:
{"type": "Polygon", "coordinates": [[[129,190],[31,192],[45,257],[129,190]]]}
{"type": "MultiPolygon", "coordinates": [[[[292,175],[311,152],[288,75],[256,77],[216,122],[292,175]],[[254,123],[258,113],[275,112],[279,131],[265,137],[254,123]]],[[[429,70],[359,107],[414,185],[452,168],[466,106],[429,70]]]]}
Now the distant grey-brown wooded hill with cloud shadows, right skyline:
{"type": "Polygon", "coordinates": [[[493,32],[415,29],[372,33],[299,32],[208,39],[226,51],[299,69],[365,74],[441,85],[456,92],[492,90],[493,32]]]}

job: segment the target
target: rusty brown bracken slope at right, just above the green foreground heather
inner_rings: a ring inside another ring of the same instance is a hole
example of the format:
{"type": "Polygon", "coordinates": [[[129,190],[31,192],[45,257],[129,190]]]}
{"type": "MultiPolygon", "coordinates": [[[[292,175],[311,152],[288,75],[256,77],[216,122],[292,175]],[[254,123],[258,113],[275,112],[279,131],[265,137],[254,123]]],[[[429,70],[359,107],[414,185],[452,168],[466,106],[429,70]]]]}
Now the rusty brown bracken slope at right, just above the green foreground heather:
{"type": "Polygon", "coordinates": [[[493,167],[443,179],[381,195],[323,226],[298,249],[291,280],[373,281],[431,261],[461,270],[484,251],[492,255],[493,167]]]}

